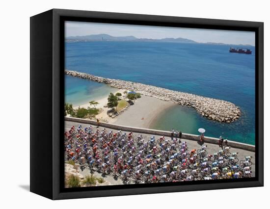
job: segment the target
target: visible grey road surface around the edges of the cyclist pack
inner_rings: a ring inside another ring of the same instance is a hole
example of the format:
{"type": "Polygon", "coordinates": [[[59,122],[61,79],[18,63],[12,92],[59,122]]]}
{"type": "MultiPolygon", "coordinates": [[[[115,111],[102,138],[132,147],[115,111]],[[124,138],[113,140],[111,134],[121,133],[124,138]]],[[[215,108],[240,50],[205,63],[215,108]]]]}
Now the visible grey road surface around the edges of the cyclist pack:
{"type": "MultiPolygon", "coordinates": [[[[83,128],[89,127],[89,124],[81,124],[81,123],[76,123],[76,122],[71,122],[71,121],[65,121],[65,128],[66,130],[70,130],[70,128],[72,126],[78,127],[79,125],[81,125],[83,128]]],[[[93,129],[96,130],[96,126],[93,126],[93,129]]],[[[102,130],[103,128],[100,127],[99,130],[102,130]]],[[[108,129],[106,128],[107,131],[113,131],[113,132],[117,132],[118,130],[113,130],[113,129],[108,129]]],[[[122,132],[127,132],[127,131],[122,131],[122,132]]],[[[127,132],[128,133],[128,132],[127,132]]],[[[144,140],[149,139],[151,136],[150,134],[143,134],[143,133],[133,133],[134,137],[137,137],[138,135],[142,135],[142,137],[144,138],[144,140]]],[[[155,135],[155,138],[158,139],[160,138],[160,135],[155,135]]],[[[188,140],[188,139],[182,139],[182,142],[186,141],[188,143],[188,147],[189,150],[192,149],[199,149],[201,147],[201,145],[199,145],[196,141],[193,140],[188,140]]],[[[220,150],[220,147],[218,147],[218,145],[216,144],[210,144],[210,143],[204,143],[204,145],[207,145],[207,152],[209,155],[212,155],[216,152],[218,152],[220,150]]],[[[246,150],[242,150],[242,149],[236,149],[236,148],[231,148],[231,153],[235,153],[238,152],[238,158],[239,160],[244,159],[244,157],[246,156],[252,156],[251,158],[251,162],[252,162],[252,166],[251,166],[251,171],[252,174],[255,175],[255,153],[254,152],[250,152],[250,151],[246,151],[246,150]]],[[[89,175],[90,172],[89,170],[84,169],[83,171],[80,171],[80,173],[83,176],[89,175]]],[[[115,180],[112,176],[102,176],[99,173],[94,173],[95,176],[97,177],[103,177],[106,181],[108,181],[111,184],[123,184],[122,181],[118,178],[117,180],[115,180]]]]}

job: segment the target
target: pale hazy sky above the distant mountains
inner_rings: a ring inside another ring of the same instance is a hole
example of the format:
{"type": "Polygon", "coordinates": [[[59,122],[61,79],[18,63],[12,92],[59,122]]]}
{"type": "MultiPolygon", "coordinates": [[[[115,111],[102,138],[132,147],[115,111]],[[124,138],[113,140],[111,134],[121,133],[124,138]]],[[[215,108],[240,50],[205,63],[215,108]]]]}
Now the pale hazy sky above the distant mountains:
{"type": "Polygon", "coordinates": [[[135,26],[122,24],[66,22],[65,35],[81,36],[105,33],[111,36],[136,38],[188,38],[196,42],[216,42],[224,44],[250,44],[255,46],[255,32],[193,29],[185,27],[135,26]]]}

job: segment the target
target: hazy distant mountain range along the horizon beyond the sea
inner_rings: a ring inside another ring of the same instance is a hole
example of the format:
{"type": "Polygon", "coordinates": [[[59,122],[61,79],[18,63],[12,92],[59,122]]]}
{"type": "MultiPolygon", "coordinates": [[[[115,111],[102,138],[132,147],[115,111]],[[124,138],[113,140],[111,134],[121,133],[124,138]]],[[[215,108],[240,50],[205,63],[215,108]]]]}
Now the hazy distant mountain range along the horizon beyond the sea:
{"type": "MultiPolygon", "coordinates": [[[[69,36],[66,37],[66,42],[90,42],[90,41],[138,41],[138,42],[172,42],[172,43],[196,43],[196,42],[187,38],[162,38],[162,39],[151,39],[151,38],[136,38],[135,36],[111,36],[108,34],[97,34],[97,35],[85,35],[85,36],[69,36]]],[[[215,44],[215,45],[229,45],[223,43],[214,43],[208,42],[206,44],[215,44]]],[[[235,45],[235,44],[232,44],[235,45]]],[[[242,45],[239,46],[251,46],[251,45],[242,45]]]]}

